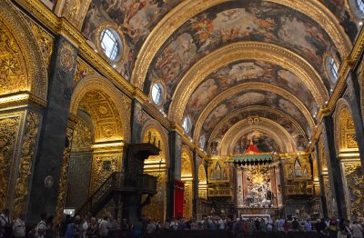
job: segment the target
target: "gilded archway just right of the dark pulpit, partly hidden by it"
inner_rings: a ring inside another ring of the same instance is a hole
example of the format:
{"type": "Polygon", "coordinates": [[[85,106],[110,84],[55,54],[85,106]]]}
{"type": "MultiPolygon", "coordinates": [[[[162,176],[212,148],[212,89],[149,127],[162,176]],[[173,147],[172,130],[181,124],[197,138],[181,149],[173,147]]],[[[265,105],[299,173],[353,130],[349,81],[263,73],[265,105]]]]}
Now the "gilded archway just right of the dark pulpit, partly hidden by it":
{"type": "Polygon", "coordinates": [[[143,208],[143,216],[157,219],[163,223],[166,220],[167,209],[167,167],[169,165],[167,137],[161,125],[155,120],[150,120],[145,124],[142,134],[143,143],[147,143],[149,138],[152,138],[152,142],[156,141],[160,148],[159,155],[149,156],[145,161],[144,173],[157,177],[157,194],[143,208]]]}

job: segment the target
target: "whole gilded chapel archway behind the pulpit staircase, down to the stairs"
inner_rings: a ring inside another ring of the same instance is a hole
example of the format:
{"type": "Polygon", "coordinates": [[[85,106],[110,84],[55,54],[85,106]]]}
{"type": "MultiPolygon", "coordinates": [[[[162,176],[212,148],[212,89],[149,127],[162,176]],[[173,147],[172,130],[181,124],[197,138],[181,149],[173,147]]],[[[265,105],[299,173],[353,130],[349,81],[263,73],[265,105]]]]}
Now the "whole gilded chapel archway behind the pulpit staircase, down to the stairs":
{"type": "Polygon", "coordinates": [[[123,170],[128,115],[122,101],[115,86],[103,77],[88,76],[76,85],[70,107],[76,125],[68,165],[66,206],[79,208],[110,174],[123,170]]]}

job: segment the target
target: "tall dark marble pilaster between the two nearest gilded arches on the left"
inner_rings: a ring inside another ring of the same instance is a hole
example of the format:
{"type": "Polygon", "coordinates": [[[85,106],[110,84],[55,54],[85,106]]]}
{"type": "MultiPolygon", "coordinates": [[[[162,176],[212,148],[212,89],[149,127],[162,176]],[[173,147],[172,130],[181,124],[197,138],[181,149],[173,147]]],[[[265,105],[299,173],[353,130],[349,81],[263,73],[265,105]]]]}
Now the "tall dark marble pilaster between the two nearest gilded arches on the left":
{"type": "Polygon", "coordinates": [[[55,214],[63,154],[68,146],[66,128],[76,68],[76,48],[62,35],[53,51],[44,121],[35,158],[27,222],[39,221],[40,213],[55,214]]]}

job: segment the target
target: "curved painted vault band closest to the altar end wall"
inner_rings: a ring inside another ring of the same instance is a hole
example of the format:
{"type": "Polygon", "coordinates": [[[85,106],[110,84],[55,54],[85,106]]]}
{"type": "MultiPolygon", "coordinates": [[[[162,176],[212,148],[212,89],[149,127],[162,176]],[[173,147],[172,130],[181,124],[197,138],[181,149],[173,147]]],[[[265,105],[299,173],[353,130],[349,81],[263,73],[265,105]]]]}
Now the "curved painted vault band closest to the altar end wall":
{"type": "MultiPolygon", "coordinates": [[[[293,118],[278,110],[268,107],[248,106],[242,110],[237,110],[227,114],[224,119],[215,122],[214,130],[207,131],[200,135],[207,138],[207,142],[221,141],[225,134],[238,122],[249,116],[258,116],[259,118],[268,118],[282,126],[290,134],[297,145],[298,151],[304,151],[307,148],[308,139],[304,130],[297,124],[293,118]]],[[[205,145],[204,145],[205,146],[205,145]]]]}

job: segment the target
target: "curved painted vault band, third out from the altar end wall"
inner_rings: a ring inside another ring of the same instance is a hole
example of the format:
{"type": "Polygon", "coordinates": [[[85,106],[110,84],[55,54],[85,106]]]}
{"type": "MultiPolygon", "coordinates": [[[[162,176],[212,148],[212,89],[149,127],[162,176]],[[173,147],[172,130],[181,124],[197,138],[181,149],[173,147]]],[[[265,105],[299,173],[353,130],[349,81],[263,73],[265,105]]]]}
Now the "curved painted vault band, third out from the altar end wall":
{"type": "Polygon", "coordinates": [[[266,62],[244,60],[228,64],[216,70],[198,85],[189,98],[185,114],[197,118],[209,101],[218,94],[237,84],[246,82],[261,82],[277,85],[296,95],[311,114],[318,111],[318,104],[311,92],[295,74],[286,69],[266,62]]]}

